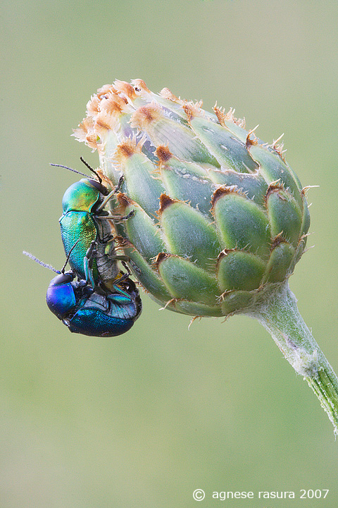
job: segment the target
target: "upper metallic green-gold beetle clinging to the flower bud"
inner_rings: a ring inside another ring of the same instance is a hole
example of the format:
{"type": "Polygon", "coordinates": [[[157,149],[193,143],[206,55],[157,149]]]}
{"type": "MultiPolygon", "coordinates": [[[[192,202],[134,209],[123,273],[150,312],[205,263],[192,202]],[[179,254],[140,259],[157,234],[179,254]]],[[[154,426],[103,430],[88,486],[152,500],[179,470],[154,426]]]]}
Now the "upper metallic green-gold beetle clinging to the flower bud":
{"type": "MultiPolygon", "coordinates": [[[[118,192],[123,177],[110,192],[102,184],[99,174],[82,157],[81,160],[96,175],[99,181],[90,178],[81,179],[65,191],[62,200],[63,214],[59,219],[63,247],[65,254],[69,256],[70,267],[80,279],[88,281],[91,272],[94,282],[106,283],[118,277],[117,260],[121,260],[123,265],[125,265],[125,262],[130,262],[130,258],[127,258],[127,256],[116,255],[115,253],[110,221],[116,222],[128,219],[134,212],[125,217],[106,212],[104,206],[118,192]],[[92,258],[92,267],[89,272],[87,252],[93,241],[96,243],[96,253],[92,258]]],[[[61,166],[61,164],[52,165],[61,166]]],[[[75,171],[66,166],[61,167],[80,173],[80,171],[75,171]]],[[[86,176],[83,173],[80,174],[86,176]]],[[[92,285],[94,286],[94,284],[92,285]]]]}

